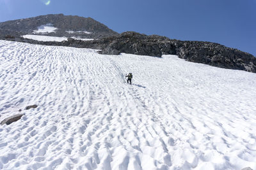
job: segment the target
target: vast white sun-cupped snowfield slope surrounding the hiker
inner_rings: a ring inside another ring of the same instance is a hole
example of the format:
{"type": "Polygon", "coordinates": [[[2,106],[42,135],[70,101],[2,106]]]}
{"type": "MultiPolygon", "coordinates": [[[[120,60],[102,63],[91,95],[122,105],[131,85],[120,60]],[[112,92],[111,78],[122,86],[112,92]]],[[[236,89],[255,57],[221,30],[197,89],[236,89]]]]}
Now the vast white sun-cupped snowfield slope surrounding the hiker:
{"type": "Polygon", "coordinates": [[[256,74],[11,41],[0,70],[0,169],[256,169],[256,74]]]}

